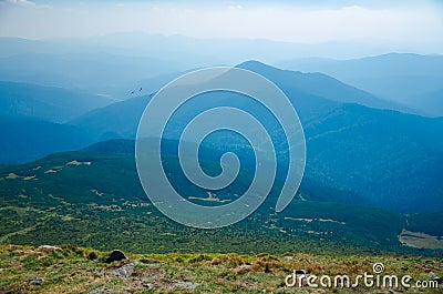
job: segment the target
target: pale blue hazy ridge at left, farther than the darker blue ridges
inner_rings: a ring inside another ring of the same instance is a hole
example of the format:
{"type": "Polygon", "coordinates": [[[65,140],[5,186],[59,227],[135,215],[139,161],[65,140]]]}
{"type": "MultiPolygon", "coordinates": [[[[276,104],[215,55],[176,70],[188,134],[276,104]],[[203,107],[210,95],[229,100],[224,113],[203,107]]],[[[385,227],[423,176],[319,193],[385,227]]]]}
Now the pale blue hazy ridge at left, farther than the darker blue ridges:
{"type": "MultiPolygon", "coordinates": [[[[100,51],[23,53],[0,58],[0,80],[74,88],[114,99],[122,87],[133,81],[185,69],[185,65],[162,59],[100,51]]],[[[130,94],[135,89],[126,90],[130,94]]]]}

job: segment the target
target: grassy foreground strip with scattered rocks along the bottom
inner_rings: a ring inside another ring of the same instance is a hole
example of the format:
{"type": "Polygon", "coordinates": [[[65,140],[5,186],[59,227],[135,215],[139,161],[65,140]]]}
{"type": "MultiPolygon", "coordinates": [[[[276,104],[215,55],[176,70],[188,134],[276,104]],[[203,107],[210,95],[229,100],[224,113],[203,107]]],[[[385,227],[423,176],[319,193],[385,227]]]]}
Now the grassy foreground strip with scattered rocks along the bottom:
{"type": "MultiPolygon", "coordinates": [[[[106,263],[110,252],[62,246],[60,249],[0,246],[0,293],[441,293],[439,288],[287,287],[293,270],[310,274],[354,277],[373,274],[411,275],[411,285],[429,281],[429,272],[443,275],[441,257],[332,256],[313,254],[126,254],[128,260],[106,263]]],[[[317,281],[317,283],[319,283],[317,281]]]]}

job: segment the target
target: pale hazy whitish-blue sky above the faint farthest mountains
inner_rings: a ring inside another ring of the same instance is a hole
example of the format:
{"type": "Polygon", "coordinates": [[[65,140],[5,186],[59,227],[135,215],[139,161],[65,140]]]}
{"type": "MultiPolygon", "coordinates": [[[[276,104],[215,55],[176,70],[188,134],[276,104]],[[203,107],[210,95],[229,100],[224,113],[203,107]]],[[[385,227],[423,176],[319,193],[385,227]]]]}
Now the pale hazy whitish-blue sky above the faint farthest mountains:
{"type": "Polygon", "coordinates": [[[443,43],[443,1],[0,1],[3,37],[122,31],[290,42],[443,43]]]}

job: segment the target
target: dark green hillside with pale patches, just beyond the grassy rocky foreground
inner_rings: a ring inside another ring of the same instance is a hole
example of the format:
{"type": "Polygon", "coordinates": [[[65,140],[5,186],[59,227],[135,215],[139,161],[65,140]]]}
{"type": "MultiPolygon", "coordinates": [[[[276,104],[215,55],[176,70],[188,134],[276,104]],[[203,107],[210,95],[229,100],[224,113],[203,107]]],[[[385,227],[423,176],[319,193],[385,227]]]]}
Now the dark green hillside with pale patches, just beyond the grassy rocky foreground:
{"type": "MultiPolygon", "coordinates": [[[[284,213],[276,214],[272,207],[280,183],[257,212],[233,226],[209,231],[184,227],[148,202],[133,154],[128,153],[131,144],[110,141],[81,152],[2,168],[0,244],[73,244],[135,253],[432,254],[400,244],[398,235],[405,226],[400,215],[381,209],[307,201],[305,196],[312,193],[309,190],[303,189],[284,213]]],[[[206,191],[183,180],[176,158],[165,156],[164,164],[182,195],[202,205],[217,204],[205,200],[206,191]]],[[[203,164],[214,173],[219,169],[215,163],[203,164]]],[[[239,180],[214,197],[233,201],[248,181],[250,173],[241,171],[239,180]]]]}

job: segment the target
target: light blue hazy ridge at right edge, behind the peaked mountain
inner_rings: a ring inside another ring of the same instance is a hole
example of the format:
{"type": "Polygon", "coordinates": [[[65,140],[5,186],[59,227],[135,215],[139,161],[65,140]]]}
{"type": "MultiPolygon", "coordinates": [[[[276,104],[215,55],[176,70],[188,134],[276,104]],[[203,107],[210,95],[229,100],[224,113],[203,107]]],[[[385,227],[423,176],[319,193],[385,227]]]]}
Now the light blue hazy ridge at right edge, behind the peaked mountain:
{"type": "Polygon", "coordinates": [[[443,97],[427,93],[441,91],[443,55],[389,53],[350,60],[299,59],[277,65],[308,72],[322,72],[370,93],[405,104],[418,114],[442,116],[443,97]]]}

